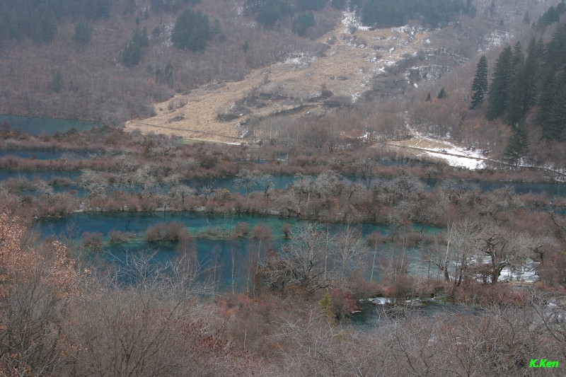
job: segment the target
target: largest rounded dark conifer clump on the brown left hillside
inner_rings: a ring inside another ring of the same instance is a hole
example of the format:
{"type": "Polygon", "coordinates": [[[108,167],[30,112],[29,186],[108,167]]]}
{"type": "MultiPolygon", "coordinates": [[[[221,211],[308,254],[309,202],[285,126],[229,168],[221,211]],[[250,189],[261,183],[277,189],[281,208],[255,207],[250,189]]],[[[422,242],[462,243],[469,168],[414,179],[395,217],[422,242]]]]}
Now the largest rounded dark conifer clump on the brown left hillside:
{"type": "Polygon", "coordinates": [[[186,9],[177,17],[171,42],[180,50],[201,51],[206,50],[207,40],[210,36],[210,24],[207,15],[200,11],[186,9]]]}

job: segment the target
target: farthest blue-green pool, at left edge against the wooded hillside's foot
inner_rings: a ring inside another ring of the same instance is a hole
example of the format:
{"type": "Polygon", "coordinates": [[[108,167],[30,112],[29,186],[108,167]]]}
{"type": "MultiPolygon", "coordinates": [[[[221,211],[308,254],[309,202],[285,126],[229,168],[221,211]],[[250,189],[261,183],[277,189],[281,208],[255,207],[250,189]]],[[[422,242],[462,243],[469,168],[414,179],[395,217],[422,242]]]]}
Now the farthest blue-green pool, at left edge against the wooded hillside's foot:
{"type": "Polygon", "coordinates": [[[75,128],[77,131],[85,131],[98,125],[95,122],[81,122],[79,120],[62,120],[49,118],[16,117],[13,115],[0,115],[0,124],[8,122],[11,130],[19,129],[30,135],[52,135],[57,131],[65,132],[75,128]]]}

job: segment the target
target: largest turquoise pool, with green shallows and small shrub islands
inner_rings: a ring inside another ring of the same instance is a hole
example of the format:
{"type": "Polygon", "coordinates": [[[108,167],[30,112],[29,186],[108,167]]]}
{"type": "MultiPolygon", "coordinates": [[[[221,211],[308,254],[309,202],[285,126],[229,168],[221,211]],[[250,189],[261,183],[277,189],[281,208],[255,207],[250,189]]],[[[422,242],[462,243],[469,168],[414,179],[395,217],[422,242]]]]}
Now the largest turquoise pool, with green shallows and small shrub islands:
{"type": "MultiPolygon", "coordinates": [[[[76,214],[74,216],[65,216],[57,219],[42,219],[35,224],[43,238],[47,236],[66,236],[79,241],[83,232],[102,234],[102,250],[117,257],[118,260],[124,260],[126,255],[132,253],[147,253],[148,250],[156,250],[155,259],[157,262],[171,259],[178,256],[178,242],[159,241],[148,243],[145,231],[150,226],[154,226],[166,221],[178,221],[185,225],[186,230],[192,236],[192,246],[195,248],[198,260],[202,263],[203,269],[211,272],[214,271],[214,279],[223,286],[231,285],[232,262],[234,263],[234,272],[236,275],[236,286],[243,288],[243,282],[248,284],[248,276],[250,269],[257,267],[258,255],[257,240],[253,237],[231,237],[234,226],[238,223],[248,224],[248,230],[251,231],[254,226],[267,226],[272,230],[270,242],[262,245],[261,253],[272,248],[280,250],[281,245],[287,242],[287,238],[283,233],[284,224],[297,226],[305,224],[307,221],[296,219],[279,219],[276,216],[246,216],[246,215],[207,215],[200,212],[157,212],[153,214],[146,213],[122,213],[122,214],[76,214]],[[122,233],[131,233],[127,243],[110,243],[109,232],[115,230],[122,233]],[[69,234],[70,231],[70,234],[69,234]],[[233,259],[232,259],[233,257],[233,259]],[[250,265],[251,264],[251,265],[250,265]]],[[[342,224],[320,224],[323,230],[328,230],[330,234],[337,233],[342,228],[342,224]]],[[[357,224],[357,228],[366,236],[371,232],[379,232],[382,236],[386,236],[389,232],[389,226],[378,224],[357,224]]],[[[420,229],[417,229],[420,230],[420,229]]],[[[425,227],[426,233],[435,233],[439,229],[434,227],[425,227]]],[[[378,258],[383,253],[388,253],[389,248],[384,246],[383,250],[378,250],[378,258]]],[[[90,253],[90,255],[96,255],[90,253]]],[[[407,255],[413,257],[417,255],[416,250],[408,250],[407,255]]],[[[367,255],[366,266],[371,265],[371,256],[367,255]]],[[[369,269],[369,268],[368,268],[369,269]]],[[[376,272],[374,277],[379,274],[376,272]]]]}

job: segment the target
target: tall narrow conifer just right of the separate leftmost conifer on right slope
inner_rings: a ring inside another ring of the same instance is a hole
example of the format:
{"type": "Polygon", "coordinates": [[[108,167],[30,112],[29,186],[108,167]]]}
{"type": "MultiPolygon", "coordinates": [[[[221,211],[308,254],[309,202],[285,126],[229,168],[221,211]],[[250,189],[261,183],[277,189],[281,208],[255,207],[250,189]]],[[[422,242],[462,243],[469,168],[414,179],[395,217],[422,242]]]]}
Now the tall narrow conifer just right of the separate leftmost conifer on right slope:
{"type": "Polygon", "coordinates": [[[512,77],[513,52],[511,46],[507,46],[497,57],[492,74],[492,82],[489,89],[487,103],[487,119],[494,120],[500,117],[505,110],[505,103],[509,96],[509,84],[512,77]]]}

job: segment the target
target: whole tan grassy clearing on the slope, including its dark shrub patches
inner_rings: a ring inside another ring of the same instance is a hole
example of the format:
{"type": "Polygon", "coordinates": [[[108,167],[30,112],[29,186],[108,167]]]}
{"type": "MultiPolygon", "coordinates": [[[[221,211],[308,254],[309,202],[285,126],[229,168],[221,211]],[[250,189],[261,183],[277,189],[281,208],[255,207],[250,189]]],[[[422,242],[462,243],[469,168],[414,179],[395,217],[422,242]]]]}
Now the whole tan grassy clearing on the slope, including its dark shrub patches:
{"type": "MultiPolygon", "coordinates": [[[[347,19],[320,37],[318,42],[328,46],[323,56],[293,52],[284,62],[253,70],[243,81],[211,83],[190,94],[175,95],[156,105],[156,116],[128,122],[127,129],[230,141],[246,135],[245,120],[250,117],[318,115],[350,105],[364,92],[374,91],[379,76],[388,77],[391,83],[381,93],[376,91],[380,96],[403,93],[408,85],[418,84],[407,75],[388,74],[386,69],[438,47],[434,30],[365,28],[352,34],[345,23],[347,19]]],[[[417,80],[422,79],[418,76],[417,80]]]]}

